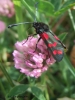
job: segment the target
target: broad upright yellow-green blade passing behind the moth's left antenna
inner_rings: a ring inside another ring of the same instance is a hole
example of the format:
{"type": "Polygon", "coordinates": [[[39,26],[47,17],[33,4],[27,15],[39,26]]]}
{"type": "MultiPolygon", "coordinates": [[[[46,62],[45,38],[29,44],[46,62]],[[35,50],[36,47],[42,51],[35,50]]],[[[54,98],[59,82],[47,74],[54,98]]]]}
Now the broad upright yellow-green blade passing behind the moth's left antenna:
{"type": "MultiPolygon", "coordinates": [[[[19,22],[23,22],[23,16],[22,16],[22,9],[21,9],[21,1],[16,1],[16,0],[13,0],[14,2],[14,5],[15,5],[15,17],[16,17],[16,23],[19,23],[19,22]]],[[[23,35],[23,25],[20,25],[20,26],[17,26],[17,32],[18,32],[18,35],[19,35],[19,40],[22,40],[24,35],[23,35]]]]}

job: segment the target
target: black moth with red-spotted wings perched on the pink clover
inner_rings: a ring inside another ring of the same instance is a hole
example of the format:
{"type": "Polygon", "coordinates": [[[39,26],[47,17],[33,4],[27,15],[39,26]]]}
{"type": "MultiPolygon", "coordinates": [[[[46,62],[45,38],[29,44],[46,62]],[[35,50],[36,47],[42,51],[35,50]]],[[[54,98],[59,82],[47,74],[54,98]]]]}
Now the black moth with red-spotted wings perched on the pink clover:
{"type": "MultiPolygon", "coordinates": [[[[36,30],[36,34],[39,34],[40,38],[38,39],[38,42],[40,41],[40,39],[42,39],[44,41],[44,43],[47,45],[48,51],[52,54],[52,56],[54,57],[54,59],[59,62],[62,60],[63,56],[64,56],[64,48],[66,48],[66,46],[60,41],[60,39],[49,29],[49,26],[46,25],[43,22],[23,22],[23,23],[18,23],[18,24],[12,24],[9,25],[8,27],[13,27],[13,26],[17,26],[19,24],[27,24],[27,23],[31,23],[32,26],[35,28],[36,30]]],[[[38,44],[37,42],[37,44],[38,44]]],[[[37,48],[37,44],[36,44],[36,48],[37,48]]]]}

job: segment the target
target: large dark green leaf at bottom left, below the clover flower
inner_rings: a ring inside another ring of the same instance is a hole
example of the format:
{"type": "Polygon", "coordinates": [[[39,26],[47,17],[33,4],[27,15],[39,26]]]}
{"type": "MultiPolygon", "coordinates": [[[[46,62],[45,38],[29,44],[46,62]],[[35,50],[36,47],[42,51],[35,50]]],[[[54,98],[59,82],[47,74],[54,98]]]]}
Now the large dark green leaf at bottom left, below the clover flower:
{"type": "Polygon", "coordinates": [[[18,85],[18,86],[15,86],[14,88],[12,88],[12,90],[7,94],[7,98],[12,98],[14,96],[18,96],[19,94],[23,94],[27,91],[28,89],[28,85],[24,85],[24,84],[21,84],[21,85],[18,85]]]}

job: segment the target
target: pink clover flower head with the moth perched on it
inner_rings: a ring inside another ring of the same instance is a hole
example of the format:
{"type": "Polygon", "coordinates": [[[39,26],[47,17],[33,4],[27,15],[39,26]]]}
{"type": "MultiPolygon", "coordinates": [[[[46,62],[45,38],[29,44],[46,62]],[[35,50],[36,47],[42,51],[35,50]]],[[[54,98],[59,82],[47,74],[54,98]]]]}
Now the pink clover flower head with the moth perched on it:
{"type": "MultiPolygon", "coordinates": [[[[38,37],[39,38],[39,37],[38,37]]],[[[55,63],[54,58],[48,52],[47,46],[41,39],[29,37],[28,40],[16,42],[16,50],[13,52],[15,68],[27,76],[38,78],[47,71],[48,66],[55,63]],[[37,44],[37,49],[36,48],[37,44]]]]}

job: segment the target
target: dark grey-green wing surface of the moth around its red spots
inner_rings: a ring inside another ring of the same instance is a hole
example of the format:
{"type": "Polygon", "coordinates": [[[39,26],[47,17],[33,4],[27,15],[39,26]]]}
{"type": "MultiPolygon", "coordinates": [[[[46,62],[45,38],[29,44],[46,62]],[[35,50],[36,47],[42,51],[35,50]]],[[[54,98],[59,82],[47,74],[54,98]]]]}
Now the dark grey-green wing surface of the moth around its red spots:
{"type": "MultiPolygon", "coordinates": [[[[64,56],[64,47],[62,46],[61,42],[59,42],[57,39],[55,39],[55,34],[51,31],[49,32],[46,32],[46,34],[48,34],[49,38],[46,40],[44,40],[45,44],[47,45],[48,47],[48,50],[51,52],[52,56],[54,57],[54,59],[59,62],[62,60],[63,56],[64,56]],[[57,43],[57,45],[55,47],[49,47],[49,43],[50,44],[53,44],[53,43],[57,43]],[[61,51],[62,54],[56,54],[54,55],[54,51],[57,50],[57,51],[61,51]]],[[[57,37],[57,36],[56,36],[57,37]]]]}

